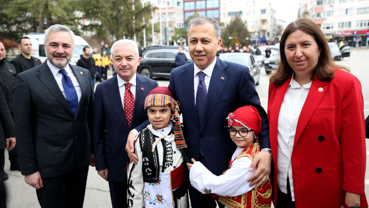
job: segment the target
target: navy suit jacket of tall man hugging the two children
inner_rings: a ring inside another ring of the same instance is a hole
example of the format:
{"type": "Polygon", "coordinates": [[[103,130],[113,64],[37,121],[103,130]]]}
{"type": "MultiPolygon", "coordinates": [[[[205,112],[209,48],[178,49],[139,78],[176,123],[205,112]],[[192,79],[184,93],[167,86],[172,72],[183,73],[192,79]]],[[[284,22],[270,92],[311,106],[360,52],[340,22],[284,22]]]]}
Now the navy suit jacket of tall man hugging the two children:
{"type": "Polygon", "coordinates": [[[259,111],[262,118],[262,130],[259,134],[261,149],[270,148],[268,119],[260,105],[248,67],[222,61],[217,57],[207,93],[203,123],[200,125],[195,110],[193,64],[173,69],[169,88],[173,98],[180,103],[183,125],[186,128],[184,138],[188,146],[187,156],[197,160],[201,149],[208,169],[215,175],[221,175],[227,170],[228,162],[237,147],[226,127],[225,118],[228,114],[244,105],[252,105],[259,111]]]}

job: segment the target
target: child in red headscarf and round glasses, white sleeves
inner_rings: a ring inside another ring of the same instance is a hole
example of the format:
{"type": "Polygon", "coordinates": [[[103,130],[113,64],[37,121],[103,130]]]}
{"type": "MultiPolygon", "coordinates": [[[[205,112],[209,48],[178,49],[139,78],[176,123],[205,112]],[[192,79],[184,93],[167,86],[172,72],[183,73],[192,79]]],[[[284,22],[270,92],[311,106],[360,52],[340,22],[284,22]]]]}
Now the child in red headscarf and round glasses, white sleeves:
{"type": "Polygon", "coordinates": [[[223,175],[212,174],[201,162],[187,163],[190,181],[194,188],[204,194],[219,195],[219,202],[228,208],[270,208],[272,187],[270,178],[262,187],[250,187],[247,179],[254,174],[249,171],[254,156],[260,151],[258,135],[261,118],[252,106],[238,108],[227,117],[231,139],[238,146],[228,170],[223,175]]]}

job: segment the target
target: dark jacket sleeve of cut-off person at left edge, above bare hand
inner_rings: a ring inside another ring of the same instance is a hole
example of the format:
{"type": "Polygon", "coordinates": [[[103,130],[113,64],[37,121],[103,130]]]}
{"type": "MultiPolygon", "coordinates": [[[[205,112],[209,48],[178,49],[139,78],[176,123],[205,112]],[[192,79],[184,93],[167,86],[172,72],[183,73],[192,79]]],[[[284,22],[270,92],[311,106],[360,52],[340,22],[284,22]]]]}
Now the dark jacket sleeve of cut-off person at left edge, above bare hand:
{"type": "MultiPolygon", "coordinates": [[[[15,137],[14,122],[11,118],[8,105],[0,89],[0,149],[5,149],[5,140],[10,137],[15,137]]],[[[1,167],[2,168],[2,167],[1,167]]]]}

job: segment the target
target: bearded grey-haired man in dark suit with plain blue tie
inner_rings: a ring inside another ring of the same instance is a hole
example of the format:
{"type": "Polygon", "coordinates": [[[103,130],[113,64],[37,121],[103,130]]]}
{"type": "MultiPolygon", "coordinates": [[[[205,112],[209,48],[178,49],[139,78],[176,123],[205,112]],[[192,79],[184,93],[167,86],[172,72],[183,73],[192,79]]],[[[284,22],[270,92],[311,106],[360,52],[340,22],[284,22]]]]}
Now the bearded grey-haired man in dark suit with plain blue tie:
{"type": "Polygon", "coordinates": [[[69,65],[74,33],[45,31],[44,64],[17,75],[15,135],[21,173],[42,208],[82,208],[91,154],[93,87],[88,70],[69,65]]]}

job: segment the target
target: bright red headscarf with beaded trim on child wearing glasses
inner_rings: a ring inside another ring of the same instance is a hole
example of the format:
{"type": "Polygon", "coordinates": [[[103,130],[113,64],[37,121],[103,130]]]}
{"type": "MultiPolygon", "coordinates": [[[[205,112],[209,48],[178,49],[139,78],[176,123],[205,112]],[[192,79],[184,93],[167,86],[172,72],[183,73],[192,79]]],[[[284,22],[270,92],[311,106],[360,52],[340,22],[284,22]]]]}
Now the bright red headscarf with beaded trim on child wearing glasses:
{"type": "Polygon", "coordinates": [[[245,127],[247,130],[252,130],[252,135],[258,139],[261,131],[261,117],[258,110],[254,106],[246,105],[238,108],[233,113],[228,114],[228,128],[232,125],[245,127]]]}

